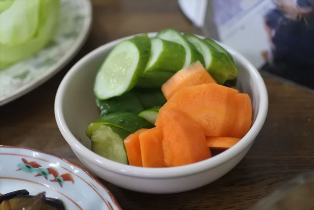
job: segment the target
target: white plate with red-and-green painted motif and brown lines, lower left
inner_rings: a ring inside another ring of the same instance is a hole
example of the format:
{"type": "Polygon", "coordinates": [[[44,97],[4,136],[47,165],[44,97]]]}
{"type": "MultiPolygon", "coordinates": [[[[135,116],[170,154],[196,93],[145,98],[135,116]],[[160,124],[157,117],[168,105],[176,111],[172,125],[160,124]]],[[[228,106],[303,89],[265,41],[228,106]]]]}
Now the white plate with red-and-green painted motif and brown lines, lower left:
{"type": "Polygon", "coordinates": [[[56,155],[23,147],[0,146],[0,193],[26,189],[46,192],[68,210],[120,210],[110,191],[78,165],[56,155]]]}

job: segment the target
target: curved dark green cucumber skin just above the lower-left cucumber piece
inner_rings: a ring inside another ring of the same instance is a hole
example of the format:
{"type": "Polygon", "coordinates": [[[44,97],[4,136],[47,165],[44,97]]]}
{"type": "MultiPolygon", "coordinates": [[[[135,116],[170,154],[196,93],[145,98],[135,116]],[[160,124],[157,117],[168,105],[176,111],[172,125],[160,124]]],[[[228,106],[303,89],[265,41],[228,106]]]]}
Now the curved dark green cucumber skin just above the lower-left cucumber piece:
{"type": "Polygon", "coordinates": [[[90,123],[86,130],[88,136],[94,131],[94,126],[99,124],[113,125],[117,128],[122,128],[129,133],[134,133],[141,128],[152,128],[154,125],[149,123],[147,120],[129,112],[119,112],[105,115],[104,117],[90,123]]]}

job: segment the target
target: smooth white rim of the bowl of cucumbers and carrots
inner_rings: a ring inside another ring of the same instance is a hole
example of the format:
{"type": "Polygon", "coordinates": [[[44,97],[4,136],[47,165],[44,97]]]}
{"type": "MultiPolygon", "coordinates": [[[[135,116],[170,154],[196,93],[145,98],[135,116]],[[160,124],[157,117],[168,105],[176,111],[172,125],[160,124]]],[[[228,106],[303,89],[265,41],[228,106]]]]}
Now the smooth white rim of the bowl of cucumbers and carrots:
{"type": "MultiPolygon", "coordinates": [[[[148,32],[149,36],[154,36],[157,34],[157,32],[148,32]]],[[[139,34],[135,34],[139,35],[139,34]]],[[[208,158],[206,160],[202,160],[193,164],[188,164],[184,166],[176,166],[176,167],[169,167],[169,168],[145,168],[145,167],[137,167],[137,166],[130,166],[122,163],[118,163],[109,159],[106,159],[105,157],[102,157],[96,153],[94,153],[92,150],[89,150],[84,145],[82,145],[76,137],[71,133],[70,129],[68,128],[64,115],[62,110],[62,99],[65,94],[65,89],[68,86],[68,81],[71,79],[71,77],[76,74],[76,71],[80,69],[80,66],[87,62],[88,60],[92,60],[96,55],[103,54],[105,51],[109,51],[113,46],[115,46],[117,43],[119,43],[122,40],[129,39],[135,35],[126,36],[120,39],[113,40],[111,42],[108,42],[87,55],[85,55],[83,58],[78,60],[77,63],[75,63],[70,70],[67,72],[67,74],[62,79],[58,90],[56,92],[55,101],[54,101],[54,114],[55,119],[57,122],[57,126],[64,137],[64,139],[67,141],[67,143],[70,145],[71,149],[75,151],[77,156],[82,156],[84,159],[87,159],[88,161],[93,162],[97,166],[99,166],[102,169],[126,175],[131,177],[139,177],[139,178],[147,178],[147,179],[167,179],[167,178],[174,178],[174,177],[184,177],[189,176],[191,174],[197,174],[204,171],[207,171],[209,169],[218,167],[219,165],[227,162],[228,160],[235,157],[237,154],[239,154],[242,150],[245,150],[247,147],[249,147],[251,144],[253,144],[255,137],[258,135],[260,130],[262,129],[263,123],[266,119],[267,111],[268,111],[268,95],[267,95],[267,89],[264,84],[264,81],[262,79],[261,74],[258,72],[258,70],[253,66],[251,62],[249,62],[244,56],[242,56],[240,53],[236,52],[233,48],[228,47],[225,44],[222,44],[218,42],[222,47],[224,47],[229,53],[233,55],[233,57],[236,57],[236,60],[238,60],[240,63],[242,63],[249,71],[249,74],[254,79],[254,84],[257,85],[258,94],[260,95],[260,102],[258,104],[258,112],[255,122],[253,123],[250,130],[247,132],[247,134],[239,141],[235,146],[232,148],[216,155],[211,158],[208,158]]],[[[197,35],[201,38],[204,38],[204,36],[197,35]]]]}

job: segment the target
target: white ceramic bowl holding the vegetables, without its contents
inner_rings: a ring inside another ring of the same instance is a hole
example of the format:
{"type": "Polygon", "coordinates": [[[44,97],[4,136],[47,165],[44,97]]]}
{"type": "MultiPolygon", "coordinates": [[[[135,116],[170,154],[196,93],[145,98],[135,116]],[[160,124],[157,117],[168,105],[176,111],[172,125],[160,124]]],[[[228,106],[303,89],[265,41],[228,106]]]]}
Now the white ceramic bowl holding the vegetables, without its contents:
{"type": "MultiPolygon", "coordinates": [[[[156,33],[149,33],[150,36],[156,33]]],[[[239,70],[237,88],[248,93],[253,105],[253,125],[232,148],[190,165],[143,168],[106,159],[91,150],[85,130],[99,118],[93,95],[96,72],[108,52],[121,40],[109,42],[79,60],[63,78],[55,98],[58,127],[79,160],[93,173],[120,187],[146,193],[176,193],[204,186],[228,173],[251,148],[260,132],[268,109],[265,84],[257,69],[235,50],[222,44],[234,57],[239,70]]]]}

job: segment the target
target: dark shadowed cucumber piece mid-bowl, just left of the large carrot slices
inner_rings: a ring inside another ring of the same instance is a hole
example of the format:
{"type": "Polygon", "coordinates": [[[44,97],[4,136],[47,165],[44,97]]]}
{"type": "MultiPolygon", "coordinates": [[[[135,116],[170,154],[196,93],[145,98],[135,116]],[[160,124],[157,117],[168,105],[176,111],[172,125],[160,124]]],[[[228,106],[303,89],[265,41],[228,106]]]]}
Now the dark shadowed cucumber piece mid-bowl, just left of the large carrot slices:
{"type": "Polygon", "coordinates": [[[136,88],[132,92],[136,95],[144,109],[164,105],[167,100],[160,89],[136,88]]]}

